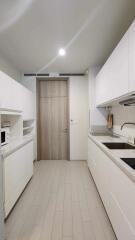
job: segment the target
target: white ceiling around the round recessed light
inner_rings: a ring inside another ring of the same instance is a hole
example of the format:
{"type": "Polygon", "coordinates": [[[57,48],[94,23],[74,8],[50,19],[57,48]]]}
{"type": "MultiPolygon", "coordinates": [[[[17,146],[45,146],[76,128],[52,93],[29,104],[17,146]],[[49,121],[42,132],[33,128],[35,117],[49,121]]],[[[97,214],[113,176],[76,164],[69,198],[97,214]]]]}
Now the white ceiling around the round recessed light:
{"type": "Polygon", "coordinates": [[[134,18],[135,0],[0,0],[0,54],[24,73],[81,73],[105,62],[134,18]]]}

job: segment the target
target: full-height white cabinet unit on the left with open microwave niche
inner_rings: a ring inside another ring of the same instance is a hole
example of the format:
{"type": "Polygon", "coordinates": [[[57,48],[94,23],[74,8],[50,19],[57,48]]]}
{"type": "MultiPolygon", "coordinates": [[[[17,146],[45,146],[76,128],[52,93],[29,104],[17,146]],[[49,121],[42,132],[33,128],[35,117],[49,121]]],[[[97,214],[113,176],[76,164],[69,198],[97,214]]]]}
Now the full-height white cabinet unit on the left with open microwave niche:
{"type": "MultiPolygon", "coordinates": [[[[1,147],[0,153],[5,196],[4,204],[0,199],[0,206],[4,205],[5,218],[33,175],[33,109],[32,92],[0,71],[0,128],[5,122],[9,122],[10,128],[9,143],[1,147]],[[25,126],[26,122],[30,124],[25,126]]],[[[1,184],[0,178],[0,187],[1,184]]],[[[0,215],[2,216],[1,208],[0,215]]]]}

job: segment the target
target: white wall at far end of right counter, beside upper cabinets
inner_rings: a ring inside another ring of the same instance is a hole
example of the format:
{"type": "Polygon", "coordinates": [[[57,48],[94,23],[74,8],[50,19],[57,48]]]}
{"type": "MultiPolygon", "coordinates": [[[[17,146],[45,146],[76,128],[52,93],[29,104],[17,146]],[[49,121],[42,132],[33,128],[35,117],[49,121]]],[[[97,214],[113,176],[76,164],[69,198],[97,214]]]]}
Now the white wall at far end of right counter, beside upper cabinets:
{"type": "Polygon", "coordinates": [[[100,131],[106,128],[107,113],[105,109],[96,108],[96,94],[95,94],[95,79],[100,67],[93,67],[89,69],[88,84],[89,84],[89,128],[90,131],[100,131]]]}

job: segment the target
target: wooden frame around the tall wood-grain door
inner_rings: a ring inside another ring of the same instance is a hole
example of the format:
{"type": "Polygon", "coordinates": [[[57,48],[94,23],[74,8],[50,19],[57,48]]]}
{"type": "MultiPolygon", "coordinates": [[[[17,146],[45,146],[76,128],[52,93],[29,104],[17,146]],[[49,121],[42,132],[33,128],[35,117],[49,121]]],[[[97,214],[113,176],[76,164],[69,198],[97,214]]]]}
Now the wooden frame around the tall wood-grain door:
{"type": "Polygon", "coordinates": [[[67,97],[68,97],[68,159],[70,161],[70,91],[68,77],[37,77],[36,78],[36,116],[37,116],[37,161],[40,161],[40,102],[39,91],[40,81],[67,81],[67,97]]]}

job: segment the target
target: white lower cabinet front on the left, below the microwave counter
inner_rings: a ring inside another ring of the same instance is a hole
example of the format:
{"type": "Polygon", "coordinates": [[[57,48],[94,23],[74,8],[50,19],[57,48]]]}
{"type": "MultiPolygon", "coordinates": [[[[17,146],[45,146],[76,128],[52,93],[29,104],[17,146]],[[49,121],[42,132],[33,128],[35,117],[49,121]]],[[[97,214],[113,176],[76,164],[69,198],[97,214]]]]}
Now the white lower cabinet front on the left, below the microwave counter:
{"type": "Polygon", "coordinates": [[[33,141],[4,159],[5,217],[33,175],[33,141]]]}

